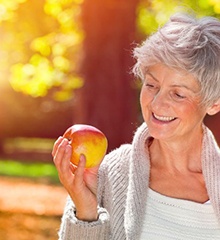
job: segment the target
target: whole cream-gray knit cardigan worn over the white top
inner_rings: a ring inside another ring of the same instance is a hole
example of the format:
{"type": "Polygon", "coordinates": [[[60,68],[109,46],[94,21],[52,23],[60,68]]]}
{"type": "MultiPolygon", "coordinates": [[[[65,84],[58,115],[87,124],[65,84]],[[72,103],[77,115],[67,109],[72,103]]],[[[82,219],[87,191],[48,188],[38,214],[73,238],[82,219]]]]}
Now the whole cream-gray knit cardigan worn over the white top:
{"type": "MultiPolygon", "coordinates": [[[[60,240],[138,240],[144,220],[150,162],[145,142],[149,132],[143,123],[132,144],[109,153],[99,170],[99,219],[83,222],[75,217],[69,198],[59,231],[60,240]]],[[[220,149],[204,126],[202,170],[211,204],[220,222],[220,149]]]]}

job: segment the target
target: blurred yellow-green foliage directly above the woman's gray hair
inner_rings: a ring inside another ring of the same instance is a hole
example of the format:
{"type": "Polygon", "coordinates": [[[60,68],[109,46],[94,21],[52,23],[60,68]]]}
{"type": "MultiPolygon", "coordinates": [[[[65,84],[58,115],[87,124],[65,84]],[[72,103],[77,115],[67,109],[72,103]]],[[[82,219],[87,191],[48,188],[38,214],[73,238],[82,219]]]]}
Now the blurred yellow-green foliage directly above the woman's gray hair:
{"type": "Polygon", "coordinates": [[[142,0],[138,9],[138,27],[142,34],[150,35],[177,11],[193,11],[198,16],[220,16],[219,0],[142,0]]]}

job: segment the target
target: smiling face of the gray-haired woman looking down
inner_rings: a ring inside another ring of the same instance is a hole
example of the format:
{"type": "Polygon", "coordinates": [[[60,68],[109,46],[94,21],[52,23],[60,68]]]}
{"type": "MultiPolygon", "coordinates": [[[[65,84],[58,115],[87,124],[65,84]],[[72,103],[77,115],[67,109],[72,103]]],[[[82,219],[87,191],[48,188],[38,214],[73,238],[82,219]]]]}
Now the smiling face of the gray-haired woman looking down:
{"type": "Polygon", "coordinates": [[[201,134],[206,115],[198,97],[200,87],[190,74],[177,72],[163,64],[148,68],[142,86],[142,114],[155,139],[188,139],[201,134]]]}

